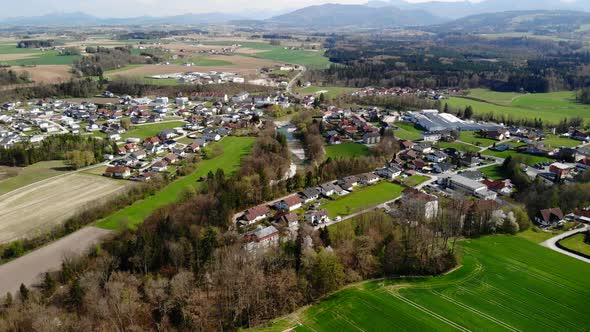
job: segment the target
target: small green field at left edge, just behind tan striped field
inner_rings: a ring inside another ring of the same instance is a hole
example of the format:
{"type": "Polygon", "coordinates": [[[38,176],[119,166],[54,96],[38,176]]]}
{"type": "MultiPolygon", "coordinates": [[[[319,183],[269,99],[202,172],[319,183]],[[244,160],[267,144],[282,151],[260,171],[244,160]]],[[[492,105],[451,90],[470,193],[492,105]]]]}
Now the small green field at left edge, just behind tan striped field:
{"type": "MultiPolygon", "coordinates": [[[[0,175],[6,172],[8,169],[9,167],[0,166],[0,175]]],[[[67,173],[69,171],[70,169],[68,169],[63,160],[38,162],[36,164],[21,168],[16,176],[0,180],[0,195],[37,181],[67,173]]]]}

